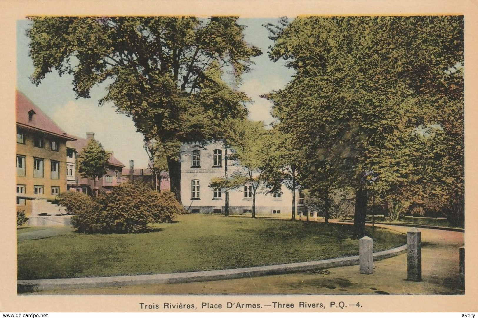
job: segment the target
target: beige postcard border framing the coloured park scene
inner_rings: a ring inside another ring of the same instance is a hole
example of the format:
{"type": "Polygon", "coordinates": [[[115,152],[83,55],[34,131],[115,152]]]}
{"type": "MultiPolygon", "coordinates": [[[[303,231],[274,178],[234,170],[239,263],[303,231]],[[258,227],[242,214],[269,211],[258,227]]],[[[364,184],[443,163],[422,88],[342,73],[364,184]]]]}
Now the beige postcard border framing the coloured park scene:
{"type": "MultiPolygon", "coordinates": [[[[0,312],[70,312],[141,311],[139,303],[214,301],[253,302],[360,301],[362,308],[350,311],[477,311],[477,242],[478,196],[476,196],[477,164],[477,40],[478,2],[476,0],[2,0],[0,1],[0,312]],[[16,292],[16,231],[14,92],[16,86],[16,21],[27,15],[239,15],[241,17],[279,17],[297,15],[465,15],[465,137],[466,137],[466,295],[456,296],[17,296],[16,292]]],[[[270,307],[269,307],[270,308],[270,307]]],[[[320,310],[320,309],[317,309],[320,310]]],[[[160,312],[162,309],[151,310],[160,312]]],[[[174,311],[174,310],[171,310],[174,311]]],[[[177,310],[187,311],[187,310],[177,310]]],[[[199,312],[200,310],[192,310],[199,312]]],[[[206,311],[206,310],[205,310],[206,311]]],[[[222,309],[217,311],[233,311],[222,309]]],[[[237,311],[274,311],[274,309],[237,311]]],[[[288,310],[276,310],[288,311],[288,310]]],[[[311,311],[294,308],[290,311],[311,311]]],[[[320,310],[324,312],[323,310],[320,310]]],[[[329,311],[329,310],[327,310],[329,311]]],[[[337,312],[344,310],[334,309],[337,312]]]]}

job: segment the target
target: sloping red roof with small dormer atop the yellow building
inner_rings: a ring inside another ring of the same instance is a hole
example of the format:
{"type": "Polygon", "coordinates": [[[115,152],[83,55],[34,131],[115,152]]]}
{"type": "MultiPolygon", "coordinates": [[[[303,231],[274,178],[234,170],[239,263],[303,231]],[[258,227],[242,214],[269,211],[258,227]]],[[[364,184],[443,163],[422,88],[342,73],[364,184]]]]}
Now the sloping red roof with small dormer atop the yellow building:
{"type": "Polygon", "coordinates": [[[46,132],[66,140],[76,140],[58,127],[38,106],[19,91],[16,91],[15,107],[17,110],[17,125],[46,132]],[[29,112],[33,115],[31,121],[29,120],[29,112]]]}

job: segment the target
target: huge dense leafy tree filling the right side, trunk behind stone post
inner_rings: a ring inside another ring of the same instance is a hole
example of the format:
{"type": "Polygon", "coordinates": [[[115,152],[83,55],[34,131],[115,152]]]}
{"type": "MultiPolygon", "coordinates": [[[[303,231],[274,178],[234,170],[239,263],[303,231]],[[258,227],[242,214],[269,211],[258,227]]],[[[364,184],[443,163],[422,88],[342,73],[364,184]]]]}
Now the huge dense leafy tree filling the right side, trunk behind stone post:
{"type": "Polygon", "coordinates": [[[364,234],[367,172],[379,175],[388,193],[418,185],[420,197],[446,192],[448,207],[461,200],[463,17],[304,17],[268,28],[270,57],[296,71],[271,95],[279,129],[297,135],[315,167],[305,186],[326,172],[355,188],[357,238],[364,234]],[[418,139],[414,131],[432,126],[441,137],[422,138],[418,151],[407,152],[418,139]]]}

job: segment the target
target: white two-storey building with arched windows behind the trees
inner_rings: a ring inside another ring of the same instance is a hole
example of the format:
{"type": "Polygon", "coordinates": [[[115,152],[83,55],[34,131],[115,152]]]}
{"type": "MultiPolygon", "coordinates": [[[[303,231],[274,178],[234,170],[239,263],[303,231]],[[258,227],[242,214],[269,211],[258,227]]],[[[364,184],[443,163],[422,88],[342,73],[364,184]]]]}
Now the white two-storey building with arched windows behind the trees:
{"type": "MultiPolygon", "coordinates": [[[[228,150],[231,151],[230,149],[228,150]]],[[[209,187],[213,177],[225,176],[225,148],[221,142],[185,143],[181,147],[181,200],[188,213],[224,214],[224,189],[209,187]]],[[[227,161],[228,175],[243,169],[236,161],[227,161]]],[[[256,215],[292,217],[292,191],[282,186],[282,193],[256,194],[256,215]]],[[[296,213],[302,209],[296,191],[296,213]]],[[[229,190],[229,214],[251,214],[250,185],[229,190]]]]}

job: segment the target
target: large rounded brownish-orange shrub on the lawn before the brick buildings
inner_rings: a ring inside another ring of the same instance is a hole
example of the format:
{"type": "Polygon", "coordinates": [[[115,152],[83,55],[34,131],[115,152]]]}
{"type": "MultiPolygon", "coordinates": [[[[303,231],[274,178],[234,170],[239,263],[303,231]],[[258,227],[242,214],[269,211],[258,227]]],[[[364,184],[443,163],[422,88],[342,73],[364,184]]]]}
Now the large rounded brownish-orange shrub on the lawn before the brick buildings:
{"type": "Polygon", "coordinates": [[[127,183],[98,196],[92,208],[76,212],[72,225],[86,233],[141,233],[151,230],[150,223],[171,222],[183,211],[171,192],[127,183]]]}

